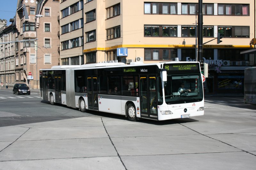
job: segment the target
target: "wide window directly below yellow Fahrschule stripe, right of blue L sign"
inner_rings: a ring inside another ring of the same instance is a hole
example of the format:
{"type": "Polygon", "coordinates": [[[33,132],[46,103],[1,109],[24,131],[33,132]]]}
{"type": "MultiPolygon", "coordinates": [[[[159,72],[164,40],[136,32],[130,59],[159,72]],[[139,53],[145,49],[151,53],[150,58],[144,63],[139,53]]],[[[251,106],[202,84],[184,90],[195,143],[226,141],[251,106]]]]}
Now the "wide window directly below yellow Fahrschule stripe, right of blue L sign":
{"type": "Polygon", "coordinates": [[[144,49],[145,60],[175,60],[177,49],[144,49]]]}

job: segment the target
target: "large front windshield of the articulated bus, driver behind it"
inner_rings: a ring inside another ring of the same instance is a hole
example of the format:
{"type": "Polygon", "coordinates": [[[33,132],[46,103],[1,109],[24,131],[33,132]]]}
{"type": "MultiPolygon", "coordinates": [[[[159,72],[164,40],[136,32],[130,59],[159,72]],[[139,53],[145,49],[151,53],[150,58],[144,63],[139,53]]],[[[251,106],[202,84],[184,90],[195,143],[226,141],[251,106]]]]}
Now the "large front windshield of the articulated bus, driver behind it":
{"type": "Polygon", "coordinates": [[[196,102],[203,100],[200,74],[167,75],[164,82],[166,104],[196,102]]]}

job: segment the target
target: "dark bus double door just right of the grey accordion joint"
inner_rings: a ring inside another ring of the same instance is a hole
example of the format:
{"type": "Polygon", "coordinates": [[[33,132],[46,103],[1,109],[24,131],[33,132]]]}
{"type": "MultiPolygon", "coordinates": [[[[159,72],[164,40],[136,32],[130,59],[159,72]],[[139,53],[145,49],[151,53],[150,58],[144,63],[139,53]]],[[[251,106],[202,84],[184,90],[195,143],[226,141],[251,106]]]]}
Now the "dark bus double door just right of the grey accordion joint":
{"type": "Polygon", "coordinates": [[[87,77],[87,90],[88,108],[92,110],[99,110],[97,76],[87,77]]]}

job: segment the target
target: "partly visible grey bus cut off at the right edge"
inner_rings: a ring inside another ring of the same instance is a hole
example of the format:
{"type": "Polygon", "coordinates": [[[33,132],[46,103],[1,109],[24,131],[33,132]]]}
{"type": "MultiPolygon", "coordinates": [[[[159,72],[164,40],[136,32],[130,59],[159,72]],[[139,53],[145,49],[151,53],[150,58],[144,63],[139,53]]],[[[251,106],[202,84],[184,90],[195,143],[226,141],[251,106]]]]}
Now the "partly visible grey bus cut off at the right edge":
{"type": "Polygon", "coordinates": [[[256,105],[256,67],[244,69],[244,103],[256,105]]]}

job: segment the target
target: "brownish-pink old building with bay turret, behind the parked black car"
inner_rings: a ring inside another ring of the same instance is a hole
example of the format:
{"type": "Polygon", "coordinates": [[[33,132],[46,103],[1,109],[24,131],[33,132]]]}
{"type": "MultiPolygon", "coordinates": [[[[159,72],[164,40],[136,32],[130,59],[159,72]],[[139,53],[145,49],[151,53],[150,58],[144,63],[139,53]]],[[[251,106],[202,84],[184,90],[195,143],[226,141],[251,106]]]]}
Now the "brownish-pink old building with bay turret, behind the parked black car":
{"type": "Polygon", "coordinates": [[[60,64],[59,0],[18,0],[15,81],[39,88],[39,70],[60,64]],[[31,40],[31,41],[29,41],[31,40]]]}

